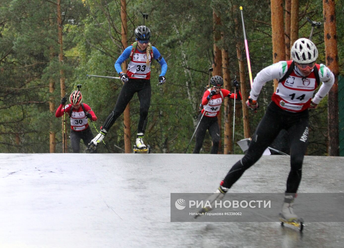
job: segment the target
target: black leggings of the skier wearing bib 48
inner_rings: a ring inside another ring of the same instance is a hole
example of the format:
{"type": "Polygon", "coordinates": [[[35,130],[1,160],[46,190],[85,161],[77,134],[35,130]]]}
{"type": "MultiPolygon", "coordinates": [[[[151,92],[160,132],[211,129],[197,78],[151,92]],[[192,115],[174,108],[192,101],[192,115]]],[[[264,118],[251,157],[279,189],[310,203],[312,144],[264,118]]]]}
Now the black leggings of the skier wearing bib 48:
{"type": "MultiPolygon", "coordinates": [[[[200,121],[200,118],[202,116],[202,113],[198,116],[198,121],[200,121]]],[[[200,150],[203,145],[204,136],[206,131],[209,131],[210,136],[213,140],[213,147],[212,147],[212,154],[217,154],[218,151],[218,145],[220,142],[220,128],[217,123],[217,117],[207,117],[203,116],[200,125],[197,128],[196,131],[196,146],[192,153],[200,153],[200,150]]]]}

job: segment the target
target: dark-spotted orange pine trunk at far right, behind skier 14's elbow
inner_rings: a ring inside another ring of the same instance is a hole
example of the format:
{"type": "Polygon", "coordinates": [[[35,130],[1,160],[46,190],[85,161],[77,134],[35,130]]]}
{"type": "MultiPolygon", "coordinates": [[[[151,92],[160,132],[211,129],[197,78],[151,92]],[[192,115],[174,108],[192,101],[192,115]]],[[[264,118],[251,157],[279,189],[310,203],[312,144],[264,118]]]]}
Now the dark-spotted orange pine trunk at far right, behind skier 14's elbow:
{"type": "Polygon", "coordinates": [[[329,155],[339,156],[339,127],[338,127],[338,49],[335,1],[323,0],[324,14],[324,40],[326,66],[330,68],[335,76],[335,82],[328,97],[328,130],[329,132],[329,155]]]}

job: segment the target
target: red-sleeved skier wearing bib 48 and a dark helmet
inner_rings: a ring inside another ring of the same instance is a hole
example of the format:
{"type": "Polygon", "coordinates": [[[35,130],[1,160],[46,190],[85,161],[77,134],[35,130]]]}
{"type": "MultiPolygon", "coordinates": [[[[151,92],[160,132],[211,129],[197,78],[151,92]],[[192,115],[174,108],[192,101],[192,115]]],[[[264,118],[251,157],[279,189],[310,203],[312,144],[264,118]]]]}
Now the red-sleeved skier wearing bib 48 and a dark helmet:
{"type": "Polygon", "coordinates": [[[210,79],[210,83],[213,85],[212,88],[206,90],[202,98],[202,105],[205,107],[205,109],[203,109],[198,116],[198,121],[201,120],[203,113],[205,113],[196,131],[196,146],[193,150],[193,153],[200,153],[205,133],[208,130],[213,141],[211,154],[217,154],[218,145],[220,142],[220,127],[217,122],[217,116],[221,110],[223,99],[224,97],[237,99],[239,101],[242,99],[241,93],[238,89],[237,81],[235,81],[234,87],[236,87],[239,95],[233,94],[229,90],[222,89],[223,79],[221,76],[213,76],[210,79]]]}

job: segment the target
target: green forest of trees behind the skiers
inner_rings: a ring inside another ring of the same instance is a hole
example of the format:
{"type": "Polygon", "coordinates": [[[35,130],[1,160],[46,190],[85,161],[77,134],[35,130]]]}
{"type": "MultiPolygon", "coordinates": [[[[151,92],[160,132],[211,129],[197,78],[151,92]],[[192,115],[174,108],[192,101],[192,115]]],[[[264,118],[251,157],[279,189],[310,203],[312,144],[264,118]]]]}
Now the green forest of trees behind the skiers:
{"type": "MultiPolygon", "coordinates": [[[[208,84],[210,67],[215,64],[217,70],[214,75],[221,74],[224,77],[227,89],[234,91],[232,82],[237,76],[238,81],[242,81],[241,89],[247,89],[243,92],[244,99],[249,94],[250,81],[240,5],[244,8],[252,76],[255,77],[261,69],[273,63],[271,2],[2,0],[0,152],[62,152],[62,121],[61,118],[55,117],[55,111],[60,105],[61,95],[69,95],[77,89],[77,84],[82,85],[83,102],[90,105],[98,117],[94,124],[99,130],[115,106],[122,82],[118,79],[86,77],[86,74],[118,76],[114,63],[123,51],[121,6],[123,12],[123,4],[126,4],[125,47],[135,40],[135,28],[143,24],[140,11],[148,13],[145,24],[152,32],[150,42],[168,63],[166,83],[157,86],[161,68],[156,61],[152,62],[152,99],[144,141],[150,144],[154,153],[184,153],[197,124],[198,107],[204,87],[208,84]],[[222,62],[216,61],[216,54],[219,53],[222,54],[222,62]]],[[[290,2],[298,4],[297,38],[308,38],[311,25],[306,18],[323,23],[323,1],[283,1],[284,14],[276,18],[280,19],[285,27],[290,27],[290,24],[284,22],[284,18],[290,15],[290,2]]],[[[334,2],[338,75],[344,75],[344,1],[334,2]]],[[[283,33],[280,36],[284,39],[283,33]]],[[[314,29],[313,42],[319,51],[317,63],[326,64],[323,25],[314,29]]],[[[288,46],[287,42],[286,58],[290,57],[288,46]]],[[[245,112],[244,101],[236,101],[235,142],[253,134],[273,91],[272,81],[263,87],[258,99],[260,108],[257,113],[245,112]]],[[[223,105],[225,106],[222,106],[222,115],[219,118],[222,127],[219,153],[242,154],[240,147],[233,146],[232,142],[234,101],[226,101],[223,105]]],[[[130,122],[126,123],[130,128],[127,129],[126,135],[123,124],[125,115],[121,115],[105,138],[107,146],[100,145],[99,152],[129,152],[125,137],[131,141],[131,147],[136,137],[138,113],[139,101],[135,95],[127,112],[130,122]]],[[[316,110],[310,111],[308,155],[329,154],[327,118],[326,97],[316,110]]],[[[89,124],[96,135],[95,128],[89,124]]],[[[66,117],[67,136],[69,130],[69,118],[66,117]]],[[[281,139],[283,140],[283,137],[281,139]]],[[[187,153],[192,152],[194,141],[195,138],[187,153]]],[[[207,134],[201,153],[210,153],[211,146],[211,138],[207,134]]],[[[66,152],[72,152],[69,139],[65,147],[66,152]]],[[[82,145],[82,148],[85,146],[82,145]]]]}

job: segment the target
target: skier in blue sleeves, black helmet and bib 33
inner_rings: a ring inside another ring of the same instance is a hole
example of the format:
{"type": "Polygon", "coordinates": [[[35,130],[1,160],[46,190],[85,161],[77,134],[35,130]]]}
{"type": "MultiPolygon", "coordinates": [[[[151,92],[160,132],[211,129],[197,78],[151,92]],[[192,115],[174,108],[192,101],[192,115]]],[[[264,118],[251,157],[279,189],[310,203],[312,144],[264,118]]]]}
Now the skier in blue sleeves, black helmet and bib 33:
{"type": "Polygon", "coordinates": [[[150,84],[150,66],[153,59],[157,60],[161,65],[161,73],[159,75],[159,84],[165,83],[165,73],[167,71],[167,63],[154,46],[149,43],[151,31],[146,26],[139,26],[135,29],[136,42],[128,46],[118,57],[115,63],[115,69],[118,72],[123,87],[119,93],[114,110],[107,117],[104,125],[101,127],[99,134],[88,145],[89,149],[96,149],[110,127],[115,123],[117,118],[124,112],[127,104],[137,92],[140,101],[140,118],[137,128],[136,147],[145,149],[143,143],[144,131],[147,125],[147,116],[151,100],[151,84],[150,84]],[[121,64],[130,58],[127,72],[122,72],[121,64]]]}

